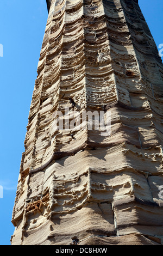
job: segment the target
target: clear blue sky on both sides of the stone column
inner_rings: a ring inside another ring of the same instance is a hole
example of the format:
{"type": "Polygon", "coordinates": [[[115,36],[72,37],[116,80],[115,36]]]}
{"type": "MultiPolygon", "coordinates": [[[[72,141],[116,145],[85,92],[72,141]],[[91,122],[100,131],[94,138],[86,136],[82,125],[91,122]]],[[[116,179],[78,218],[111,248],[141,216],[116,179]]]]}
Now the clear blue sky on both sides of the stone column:
{"type": "MultiPolygon", "coordinates": [[[[139,4],[156,45],[163,44],[162,0],[139,0],[139,4]]],[[[0,245],[10,245],[12,208],[48,13],[46,0],[1,0],[0,9],[0,245]]]]}

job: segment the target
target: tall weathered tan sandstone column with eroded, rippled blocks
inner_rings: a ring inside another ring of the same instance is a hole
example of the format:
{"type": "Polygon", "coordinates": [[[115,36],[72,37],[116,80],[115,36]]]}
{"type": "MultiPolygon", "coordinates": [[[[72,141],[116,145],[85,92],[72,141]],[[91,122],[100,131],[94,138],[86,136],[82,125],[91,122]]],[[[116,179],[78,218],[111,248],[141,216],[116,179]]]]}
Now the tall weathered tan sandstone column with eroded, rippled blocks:
{"type": "Polygon", "coordinates": [[[137,1],[52,0],[37,72],[11,244],[161,245],[163,66],[137,1]],[[65,107],[111,112],[111,135],[55,130],[65,107]]]}

